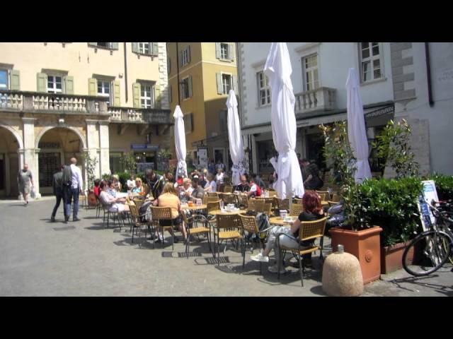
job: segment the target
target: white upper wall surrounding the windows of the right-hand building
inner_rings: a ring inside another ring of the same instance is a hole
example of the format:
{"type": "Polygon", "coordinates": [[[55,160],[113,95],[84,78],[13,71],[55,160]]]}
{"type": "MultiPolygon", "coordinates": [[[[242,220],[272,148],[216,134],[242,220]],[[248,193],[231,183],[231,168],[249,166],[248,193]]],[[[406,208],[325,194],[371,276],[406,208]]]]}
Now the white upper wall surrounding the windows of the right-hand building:
{"type": "MultiPolygon", "coordinates": [[[[336,88],[336,108],[345,109],[345,83],[348,69],[350,67],[359,69],[357,42],[321,42],[319,44],[288,42],[287,46],[292,64],[291,80],[294,93],[303,92],[301,58],[313,52],[318,52],[321,86],[336,88]],[[304,47],[306,48],[304,49],[304,47]]],[[[270,106],[258,107],[258,83],[256,79],[256,73],[264,69],[269,49],[270,42],[243,43],[243,64],[241,64],[243,70],[241,70],[241,73],[245,71],[245,78],[241,78],[241,81],[245,85],[245,97],[242,98],[242,126],[253,126],[270,121],[270,106]]],[[[364,105],[393,100],[389,43],[382,43],[382,53],[384,54],[385,80],[362,85],[361,94],[364,105]]]]}

